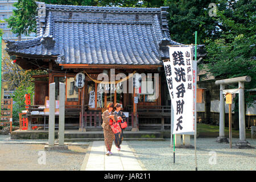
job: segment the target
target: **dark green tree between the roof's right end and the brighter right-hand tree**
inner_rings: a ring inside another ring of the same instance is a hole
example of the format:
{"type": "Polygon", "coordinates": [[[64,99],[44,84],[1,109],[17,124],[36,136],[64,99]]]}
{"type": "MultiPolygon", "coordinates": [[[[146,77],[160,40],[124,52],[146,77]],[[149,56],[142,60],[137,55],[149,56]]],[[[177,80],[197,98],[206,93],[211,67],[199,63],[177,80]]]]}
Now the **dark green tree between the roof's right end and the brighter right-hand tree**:
{"type": "MultiPolygon", "coordinates": [[[[197,31],[197,43],[204,44],[207,38],[216,39],[218,31],[216,19],[209,16],[210,0],[165,0],[164,6],[169,6],[169,30],[171,38],[176,42],[191,44],[195,42],[194,32],[197,31]]],[[[218,3],[218,1],[214,1],[218,3]]]]}

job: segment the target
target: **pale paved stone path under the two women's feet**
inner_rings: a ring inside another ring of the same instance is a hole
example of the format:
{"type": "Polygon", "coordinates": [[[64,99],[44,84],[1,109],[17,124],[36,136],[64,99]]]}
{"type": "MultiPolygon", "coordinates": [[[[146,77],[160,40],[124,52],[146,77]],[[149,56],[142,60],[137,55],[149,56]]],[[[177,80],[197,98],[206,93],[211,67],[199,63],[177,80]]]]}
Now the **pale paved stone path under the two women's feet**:
{"type": "Polygon", "coordinates": [[[106,155],[104,141],[94,141],[88,147],[81,171],[142,171],[142,167],[135,157],[128,143],[123,141],[121,151],[115,150],[113,143],[113,155],[106,155]]]}

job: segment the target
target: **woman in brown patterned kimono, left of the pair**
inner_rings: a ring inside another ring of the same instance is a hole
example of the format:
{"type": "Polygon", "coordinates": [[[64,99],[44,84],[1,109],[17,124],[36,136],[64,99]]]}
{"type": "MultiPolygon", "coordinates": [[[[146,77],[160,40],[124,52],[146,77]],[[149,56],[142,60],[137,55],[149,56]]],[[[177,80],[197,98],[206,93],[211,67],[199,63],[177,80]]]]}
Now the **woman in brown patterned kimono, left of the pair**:
{"type": "Polygon", "coordinates": [[[107,110],[105,110],[102,113],[102,127],[104,131],[104,141],[105,141],[105,147],[106,147],[106,155],[112,155],[111,148],[113,144],[114,139],[114,133],[110,127],[112,125],[113,121],[117,121],[117,117],[113,113],[114,104],[110,103],[107,107],[107,110]]]}

